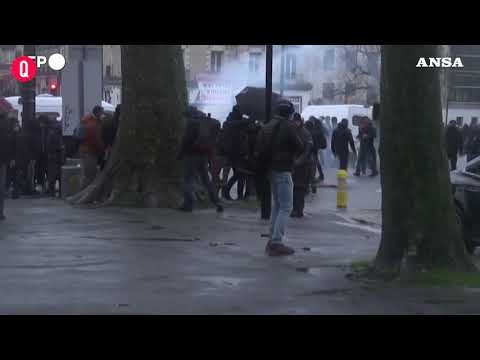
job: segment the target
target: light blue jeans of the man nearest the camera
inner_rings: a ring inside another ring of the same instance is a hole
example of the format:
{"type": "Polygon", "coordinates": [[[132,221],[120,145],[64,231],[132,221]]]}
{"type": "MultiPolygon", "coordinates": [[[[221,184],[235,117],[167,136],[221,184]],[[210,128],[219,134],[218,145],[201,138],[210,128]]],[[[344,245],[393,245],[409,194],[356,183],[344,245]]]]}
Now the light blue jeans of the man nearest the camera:
{"type": "Polygon", "coordinates": [[[293,181],[290,172],[272,171],[270,174],[272,187],[272,219],[270,225],[271,240],[282,242],[285,228],[293,209],[293,181]]]}

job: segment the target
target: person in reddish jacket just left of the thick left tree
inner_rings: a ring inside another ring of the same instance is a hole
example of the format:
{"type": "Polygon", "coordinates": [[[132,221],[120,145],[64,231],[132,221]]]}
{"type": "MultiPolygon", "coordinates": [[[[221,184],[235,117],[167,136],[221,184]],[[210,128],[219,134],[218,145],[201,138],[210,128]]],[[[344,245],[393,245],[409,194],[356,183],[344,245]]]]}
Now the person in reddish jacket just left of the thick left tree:
{"type": "Polygon", "coordinates": [[[88,187],[97,176],[97,164],[105,145],[102,140],[103,108],[95,106],[91,114],[82,119],[80,126],[84,128],[84,138],[80,140],[80,156],[82,161],[81,189],[88,187]]]}

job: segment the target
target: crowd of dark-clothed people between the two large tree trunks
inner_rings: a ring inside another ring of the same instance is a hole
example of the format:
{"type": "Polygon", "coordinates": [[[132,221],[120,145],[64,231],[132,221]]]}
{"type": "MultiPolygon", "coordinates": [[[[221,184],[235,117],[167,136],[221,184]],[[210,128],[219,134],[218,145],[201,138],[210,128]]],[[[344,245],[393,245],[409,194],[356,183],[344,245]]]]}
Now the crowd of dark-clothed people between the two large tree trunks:
{"type": "MultiPolygon", "coordinates": [[[[195,185],[203,185],[218,212],[224,201],[260,203],[260,216],[270,221],[269,255],[290,255],[284,244],[287,219],[304,216],[305,198],[324,181],[321,154],[331,154],[339,169],[347,170],[350,150],[357,154],[348,120],[305,121],[293,104],[281,100],[268,123],[241,112],[235,105],[223,124],[195,107],[185,112],[186,127],[178,159],[183,161],[184,202],[181,211],[192,212],[199,198],[195,185]],[[330,145],[330,146],[329,146],[330,145]],[[318,174],[318,176],[317,176],[318,174]],[[236,185],[236,194],[232,189],[236,185]]],[[[377,176],[374,141],[376,130],[368,117],[361,121],[360,149],[355,175],[377,176]]],[[[325,159],[323,159],[325,161],[325,159]]]]}

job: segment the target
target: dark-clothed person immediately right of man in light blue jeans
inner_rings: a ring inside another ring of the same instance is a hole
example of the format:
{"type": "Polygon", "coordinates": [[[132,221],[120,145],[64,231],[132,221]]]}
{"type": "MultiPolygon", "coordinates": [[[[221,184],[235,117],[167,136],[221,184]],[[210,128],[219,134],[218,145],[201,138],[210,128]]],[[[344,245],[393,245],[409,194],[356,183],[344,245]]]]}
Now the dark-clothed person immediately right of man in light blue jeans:
{"type": "MultiPolygon", "coordinates": [[[[304,122],[300,114],[293,115],[293,122],[298,131],[298,136],[304,144],[302,154],[295,160],[293,169],[293,210],[290,217],[302,218],[303,210],[305,209],[305,196],[310,181],[314,180],[311,176],[312,164],[315,166],[314,158],[317,152],[314,147],[314,140],[311,133],[305,128],[304,122]]],[[[313,173],[313,177],[315,173],[313,173]]]]}

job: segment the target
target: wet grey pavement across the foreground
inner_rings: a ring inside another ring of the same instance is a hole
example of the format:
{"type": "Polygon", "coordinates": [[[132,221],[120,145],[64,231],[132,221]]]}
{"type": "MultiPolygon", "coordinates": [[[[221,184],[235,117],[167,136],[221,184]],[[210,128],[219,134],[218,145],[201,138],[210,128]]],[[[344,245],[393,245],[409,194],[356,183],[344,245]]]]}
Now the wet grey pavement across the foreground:
{"type": "Polygon", "coordinates": [[[184,214],[9,200],[0,223],[0,314],[478,313],[475,290],[346,277],[379,244],[378,226],[351,219],[362,197],[374,207],[378,180],[357,181],[346,212],[331,206],[334,189],[309,198],[308,215],[290,222],[296,254],[288,258],[265,256],[268,224],[249,208],[184,214]]]}

